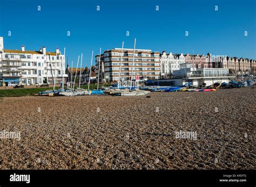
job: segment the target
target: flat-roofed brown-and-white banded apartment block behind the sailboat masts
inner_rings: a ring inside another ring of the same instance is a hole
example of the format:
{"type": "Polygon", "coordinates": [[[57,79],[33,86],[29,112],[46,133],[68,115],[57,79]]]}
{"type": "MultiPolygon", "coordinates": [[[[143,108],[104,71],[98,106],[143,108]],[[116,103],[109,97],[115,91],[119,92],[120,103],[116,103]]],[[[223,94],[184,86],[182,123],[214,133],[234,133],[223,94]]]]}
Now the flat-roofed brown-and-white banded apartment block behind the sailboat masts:
{"type": "MultiPolygon", "coordinates": [[[[100,71],[99,55],[96,55],[96,79],[99,82],[118,82],[119,68],[121,61],[121,48],[114,48],[104,51],[100,55],[100,71]]],[[[135,80],[136,76],[140,80],[148,78],[158,79],[160,77],[160,59],[159,52],[151,52],[146,49],[136,49],[134,52],[134,64],[132,75],[133,49],[123,49],[122,66],[120,79],[123,81],[135,80]]]]}

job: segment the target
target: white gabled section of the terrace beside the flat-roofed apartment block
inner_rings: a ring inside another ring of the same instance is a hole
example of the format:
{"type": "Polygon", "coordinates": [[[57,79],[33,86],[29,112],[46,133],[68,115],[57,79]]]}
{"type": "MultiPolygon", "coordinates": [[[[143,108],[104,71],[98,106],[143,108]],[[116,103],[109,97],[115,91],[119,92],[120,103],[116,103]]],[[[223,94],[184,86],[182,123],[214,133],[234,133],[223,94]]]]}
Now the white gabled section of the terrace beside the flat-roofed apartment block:
{"type": "Polygon", "coordinates": [[[161,77],[167,78],[172,75],[173,70],[179,70],[180,64],[185,63],[185,56],[181,54],[166,54],[164,51],[160,55],[161,77]]]}

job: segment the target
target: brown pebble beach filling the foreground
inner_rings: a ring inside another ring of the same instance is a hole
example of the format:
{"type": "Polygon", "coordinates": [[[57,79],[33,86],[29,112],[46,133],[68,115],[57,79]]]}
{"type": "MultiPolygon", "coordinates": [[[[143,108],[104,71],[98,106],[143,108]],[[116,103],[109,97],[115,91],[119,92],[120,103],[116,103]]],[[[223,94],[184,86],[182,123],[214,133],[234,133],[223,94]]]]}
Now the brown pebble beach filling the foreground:
{"type": "Polygon", "coordinates": [[[4,97],[0,169],[255,169],[255,93],[4,97]]]}

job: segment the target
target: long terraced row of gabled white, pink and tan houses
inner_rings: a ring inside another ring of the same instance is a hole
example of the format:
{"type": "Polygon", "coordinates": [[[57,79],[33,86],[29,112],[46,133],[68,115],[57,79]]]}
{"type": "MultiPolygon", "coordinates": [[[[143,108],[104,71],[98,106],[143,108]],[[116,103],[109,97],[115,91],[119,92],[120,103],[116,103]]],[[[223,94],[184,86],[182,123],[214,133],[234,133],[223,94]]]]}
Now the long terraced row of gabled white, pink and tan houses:
{"type": "Polygon", "coordinates": [[[182,68],[180,64],[191,64],[192,68],[226,68],[235,76],[256,75],[256,61],[251,59],[238,59],[237,57],[228,57],[224,55],[211,55],[208,53],[191,54],[167,54],[165,51],[160,54],[160,77],[172,77],[173,70],[182,68]]]}

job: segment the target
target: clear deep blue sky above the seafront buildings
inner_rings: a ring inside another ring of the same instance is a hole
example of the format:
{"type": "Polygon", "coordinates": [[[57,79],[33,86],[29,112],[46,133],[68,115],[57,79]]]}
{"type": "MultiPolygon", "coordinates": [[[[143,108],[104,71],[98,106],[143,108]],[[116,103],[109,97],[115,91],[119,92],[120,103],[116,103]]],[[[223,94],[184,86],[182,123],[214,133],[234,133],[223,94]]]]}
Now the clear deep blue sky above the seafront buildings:
{"type": "Polygon", "coordinates": [[[133,48],[134,38],[140,49],[256,59],[255,0],[2,0],[0,23],[4,48],[66,47],[70,62],[83,53],[83,66],[92,50],[133,48]]]}

